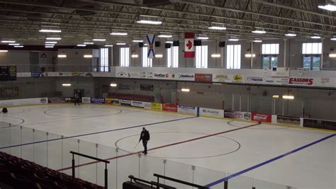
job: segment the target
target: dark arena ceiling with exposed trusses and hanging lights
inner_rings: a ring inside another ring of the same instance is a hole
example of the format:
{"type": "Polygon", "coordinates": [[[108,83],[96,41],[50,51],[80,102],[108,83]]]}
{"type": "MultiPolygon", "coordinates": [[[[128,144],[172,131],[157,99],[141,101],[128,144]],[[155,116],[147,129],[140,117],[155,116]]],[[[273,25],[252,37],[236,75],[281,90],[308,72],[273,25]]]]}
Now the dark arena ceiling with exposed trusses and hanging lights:
{"type": "MultiPolygon", "coordinates": [[[[58,45],[77,45],[94,38],[102,44],[131,42],[145,34],[184,32],[206,35],[209,40],[296,38],[336,35],[336,11],[326,11],[319,0],[0,0],[0,38],[22,45],[43,45],[46,37],[61,37],[58,45]],[[136,21],[162,21],[160,25],[136,21]],[[211,30],[210,26],[226,30],[211,30]],[[251,33],[255,28],[265,34],[251,33]],[[62,33],[40,33],[57,29],[62,33]],[[111,32],[128,33],[120,37],[111,32]]],[[[332,2],[335,3],[335,2],[332,2]]]]}

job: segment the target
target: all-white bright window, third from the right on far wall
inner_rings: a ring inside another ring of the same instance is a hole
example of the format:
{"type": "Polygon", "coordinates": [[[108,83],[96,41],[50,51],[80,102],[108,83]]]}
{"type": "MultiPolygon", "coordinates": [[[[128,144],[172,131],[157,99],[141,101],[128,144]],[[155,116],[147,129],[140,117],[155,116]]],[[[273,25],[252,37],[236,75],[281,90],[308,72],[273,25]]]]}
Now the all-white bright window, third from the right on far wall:
{"type": "Polygon", "coordinates": [[[241,45],[228,45],[226,48],[226,68],[240,69],[241,45]]]}

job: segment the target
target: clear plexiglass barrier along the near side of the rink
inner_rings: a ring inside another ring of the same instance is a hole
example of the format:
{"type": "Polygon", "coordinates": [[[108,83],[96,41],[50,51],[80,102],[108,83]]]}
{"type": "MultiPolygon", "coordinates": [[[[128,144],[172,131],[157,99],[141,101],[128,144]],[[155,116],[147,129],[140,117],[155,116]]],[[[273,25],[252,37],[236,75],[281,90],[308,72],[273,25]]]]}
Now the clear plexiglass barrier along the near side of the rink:
{"type": "MultiPolygon", "coordinates": [[[[181,164],[168,159],[160,159],[142,154],[129,154],[113,147],[86,142],[82,139],[60,136],[40,130],[30,129],[20,125],[4,125],[0,127],[0,151],[33,161],[40,166],[52,168],[62,173],[72,175],[72,154],[69,151],[110,161],[108,169],[108,188],[123,188],[123,182],[129,181],[129,175],[146,181],[156,181],[154,173],[177,178],[181,181],[197,185],[207,185],[230,173],[214,171],[189,164],[181,164]],[[119,158],[118,158],[119,157],[119,158]]],[[[105,164],[83,156],[74,156],[75,176],[84,181],[104,185],[105,164]]],[[[161,181],[175,188],[192,188],[188,185],[161,181]]],[[[230,189],[286,189],[288,186],[259,181],[254,178],[237,176],[230,179],[230,189]]],[[[211,188],[224,188],[224,183],[218,183],[211,188]]]]}

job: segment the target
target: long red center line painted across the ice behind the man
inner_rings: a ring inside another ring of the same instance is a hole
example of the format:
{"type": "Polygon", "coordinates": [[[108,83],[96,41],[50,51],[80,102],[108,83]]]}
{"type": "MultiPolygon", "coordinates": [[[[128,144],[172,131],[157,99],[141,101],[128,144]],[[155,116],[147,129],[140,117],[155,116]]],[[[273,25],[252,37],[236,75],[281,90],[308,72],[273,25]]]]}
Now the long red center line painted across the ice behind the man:
{"type": "MultiPolygon", "coordinates": [[[[227,132],[233,132],[235,130],[242,130],[242,129],[245,129],[245,128],[248,128],[248,127],[253,127],[253,126],[256,126],[256,125],[260,125],[260,123],[256,123],[256,124],[253,124],[253,125],[247,125],[245,127],[239,127],[237,129],[233,129],[233,130],[227,130],[227,131],[223,131],[223,132],[217,132],[217,133],[214,133],[214,134],[208,134],[208,135],[203,136],[203,137],[197,137],[197,138],[194,138],[194,139],[188,139],[188,140],[184,140],[184,141],[181,141],[181,142],[174,142],[174,143],[166,144],[166,145],[163,145],[163,146],[160,146],[160,147],[155,147],[155,148],[152,148],[152,149],[147,149],[147,151],[152,151],[152,150],[155,150],[155,149],[162,149],[164,147],[171,147],[171,146],[174,146],[174,145],[177,145],[177,144],[183,144],[183,143],[186,143],[186,142],[191,142],[191,141],[198,140],[198,139],[204,139],[204,138],[207,138],[207,137],[213,137],[213,136],[218,135],[218,134],[224,134],[224,133],[227,133],[227,132]]],[[[105,159],[105,160],[108,161],[108,160],[122,158],[122,157],[125,157],[125,156],[132,156],[132,155],[135,155],[135,154],[140,154],[141,152],[142,151],[136,151],[136,152],[133,152],[133,153],[130,153],[130,154],[125,154],[125,155],[121,155],[121,156],[115,156],[115,157],[111,157],[111,158],[108,158],[108,159],[105,159]]],[[[91,162],[88,162],[86,164],[79,164],[79,165],[74,166],[74,167],[77,168],[77,167],[80,167],[80,166],[88,166],[88,165],[96,164],[96,163],[99,163],[99,161],[91,161],[91,162]]],[[[71,168],[72,167],[69,166],[69,167],[66,167],[66,168],[58,169],[56,171],[65,171],[65,170],[68,170],[68,169],[71,169],[71,168]]]]}

